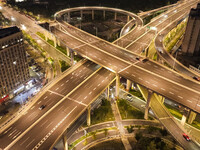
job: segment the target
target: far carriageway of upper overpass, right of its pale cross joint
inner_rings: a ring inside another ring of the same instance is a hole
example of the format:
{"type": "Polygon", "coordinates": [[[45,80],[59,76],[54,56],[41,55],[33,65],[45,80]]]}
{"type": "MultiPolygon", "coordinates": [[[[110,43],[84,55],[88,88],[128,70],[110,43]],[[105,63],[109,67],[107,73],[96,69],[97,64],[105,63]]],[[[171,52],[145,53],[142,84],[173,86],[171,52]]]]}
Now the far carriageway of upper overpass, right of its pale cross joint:
{"type": "Polygon", "coordinates": [[[193,80],[186,79],[183,76],[179,75],[178,73],[166,67],[163,67],[160,64],[154,63],[152,61],[147,61],[145,63],[141,61],[137,63],[137,66],[149,70],[158,75],[162,75],[163,77],[166,77],[177,83],[183,84],[184,86],[188,86],[196,91],[199,91],[200,89],[200,84],[194,82],[193,80]]]}

